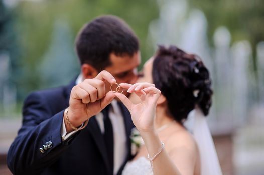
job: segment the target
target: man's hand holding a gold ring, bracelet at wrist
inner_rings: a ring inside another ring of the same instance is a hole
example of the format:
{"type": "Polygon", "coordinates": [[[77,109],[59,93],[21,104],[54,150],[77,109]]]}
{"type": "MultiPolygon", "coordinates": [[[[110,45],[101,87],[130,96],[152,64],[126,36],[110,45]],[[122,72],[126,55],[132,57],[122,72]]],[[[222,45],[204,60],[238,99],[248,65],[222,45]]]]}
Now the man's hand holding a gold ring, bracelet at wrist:
{"type": "MultiPolygon", "coordinates": [[[[116,83],[107,71],[101,71],[93,79],[85,79],[71,90],[68,117],[73,126],[79,127],[85,120],[98,114],[115,97],[113,92],[105,92],[105,81],[116,83]]],[[[66,123],[67,133],[73,129],[66,123]]]]}

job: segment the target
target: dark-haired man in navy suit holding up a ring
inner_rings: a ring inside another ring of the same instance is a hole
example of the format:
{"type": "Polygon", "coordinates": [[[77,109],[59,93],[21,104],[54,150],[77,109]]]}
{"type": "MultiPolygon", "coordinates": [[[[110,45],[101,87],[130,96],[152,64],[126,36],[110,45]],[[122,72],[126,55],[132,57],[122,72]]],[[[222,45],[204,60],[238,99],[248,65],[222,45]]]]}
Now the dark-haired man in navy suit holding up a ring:
{"type": "Polygon", "coordinates": [[[8,152],[12,173],[120,174],[131,158],[134,125],[127,109],[113,99],[110,84],[135,82],[140,64],[136,35],[120,18],[101,16],[81,29],[76,52],[78,77],[25,100],[23,124],[8,152]]]}

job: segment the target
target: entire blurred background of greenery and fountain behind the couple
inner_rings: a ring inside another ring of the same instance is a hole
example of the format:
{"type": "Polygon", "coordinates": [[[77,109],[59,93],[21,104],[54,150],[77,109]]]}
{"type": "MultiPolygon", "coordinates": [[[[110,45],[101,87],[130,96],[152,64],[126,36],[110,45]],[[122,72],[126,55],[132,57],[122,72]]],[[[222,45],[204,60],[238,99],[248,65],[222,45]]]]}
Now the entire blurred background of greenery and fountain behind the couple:
{"type": "Polygon", "coordinates": [[[0,164],[25,97],[78,75],[75,37],[104,14],[135,31],[142,65],[158,44],[201,56],[213,80],[208,123],[224,174],[263,174],[263,0],[0,0],[0,132],[9,135],[0,136],[0,164]]]}

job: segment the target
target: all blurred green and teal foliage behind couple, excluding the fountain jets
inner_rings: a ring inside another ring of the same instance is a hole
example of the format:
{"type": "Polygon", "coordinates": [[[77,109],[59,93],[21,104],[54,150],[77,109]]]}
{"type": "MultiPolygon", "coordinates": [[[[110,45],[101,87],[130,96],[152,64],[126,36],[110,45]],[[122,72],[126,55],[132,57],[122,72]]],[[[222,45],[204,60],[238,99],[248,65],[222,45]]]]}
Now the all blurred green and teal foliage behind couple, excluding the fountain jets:
{"type": "MultiPolygon", "coordinates": [[[[9,82],[16,84],[18,100],[23,100],[32,90],[61,85],[62,82],[67,83],[65,79],[53,79],[56,82],[51,82],[52,80],[43,77],[45,72],[42,66],[45,64],[45,59],[49,59],[48,64],[53,64],[51,62],[53,60],[59,63],[65,59],[66,64],[63,65],[65,70],[58,72],[65,71],[66,75],[71,73],[71,77],[78,73],[79,65],[74,52],[75,36],[84,23],[98,15],[117,15],[133,28],[140,39],[144,63],[155,51],[152,43],[148,42],[147,35],[151,21],[159,17],[159,4],[166,2],[166,0],[158,1],[1,0],[0,51],[9,54],[11,63],[9,82]],[[55,61],[55,59],[61,60],[55,61]],[[67,64],[67,61],[73,61],[74,68],[72,64],[67,64]]],[[[255,48],[258,42],[264,40],[262,0],[187,1],[188,10],[198,8],[205,13],[210,45],[213,45],[213,33],[222,25],[229,29],[232,35],[231,42],[247,39],[255,48]]],[[[252,59],[255,71],[255,56],[252,59]]],[[[55,70],[52,71],[50,74],[56,73],[55,70]]],[[[68,79],[69,76],[65,77],[68,79]]]]}

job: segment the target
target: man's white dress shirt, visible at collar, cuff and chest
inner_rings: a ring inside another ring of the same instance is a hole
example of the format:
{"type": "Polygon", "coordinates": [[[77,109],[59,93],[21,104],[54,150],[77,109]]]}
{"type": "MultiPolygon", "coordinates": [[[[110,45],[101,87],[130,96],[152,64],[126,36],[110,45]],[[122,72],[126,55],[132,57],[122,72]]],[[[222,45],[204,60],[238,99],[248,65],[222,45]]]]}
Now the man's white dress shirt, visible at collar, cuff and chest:
{"type": "MultiPolygon", "coordinates": [[[[83,80],[82,75],[80,74],[76,79],[76,84],[81,83],[83,80]]],[[[119,168],[125,161],[125,157],[128,153],[126,149],[126,135],[125,135],[125,126],[124,126],[124,119],[122,116],[122,112],[117,104],[116,100],[111,102],[111,109],[109,110],[109,118],[112,123],[113,128],[113,148],[114,148],[114,168],[113,174],[117,174],[119,168]]],[[[100,112],[95,116],[98,125],[100,127],[101,133],[104,134],[104,122],[103,122],[103,114],[100,112]]],[[[62,121],[61,127],[61,135],[62,140],[68,139],[72,134],[78,132],[77,130],[72,131],[71,133],[67,134],[64,119],[62,121]]],[[[80,126],[82,127],[82,126],[80,126]]]]}

